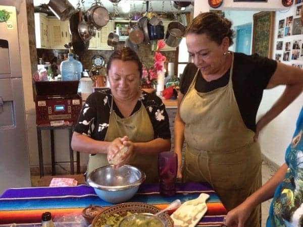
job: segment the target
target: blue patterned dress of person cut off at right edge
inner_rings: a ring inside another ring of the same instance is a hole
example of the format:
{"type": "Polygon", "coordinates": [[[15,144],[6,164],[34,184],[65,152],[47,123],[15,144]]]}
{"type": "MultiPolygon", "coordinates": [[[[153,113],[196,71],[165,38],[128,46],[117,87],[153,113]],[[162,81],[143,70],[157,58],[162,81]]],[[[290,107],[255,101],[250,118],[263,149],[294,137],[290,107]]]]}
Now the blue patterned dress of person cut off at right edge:
{"type": "Polygon", "coordinates": [[[267,227],[303,226],[303,108],[285,160],[288,169],[275,191],[267,227]]]}

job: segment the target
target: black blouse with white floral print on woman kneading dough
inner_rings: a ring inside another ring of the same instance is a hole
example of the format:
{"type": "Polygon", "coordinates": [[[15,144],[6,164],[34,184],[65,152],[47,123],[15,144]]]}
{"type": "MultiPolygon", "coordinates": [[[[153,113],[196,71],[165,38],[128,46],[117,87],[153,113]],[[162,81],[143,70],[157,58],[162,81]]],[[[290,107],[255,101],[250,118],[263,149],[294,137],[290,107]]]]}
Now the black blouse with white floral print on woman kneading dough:
{"type": "MultiPolygon", "coordinates": [[[[151,125],[154,127],[154,138],[170,139],[168,114],[161,98],[143,91],[131,115],[140,109],[141,101],[146,108],[151,125]]],[[[109,127],[111,103],[112,93],[110,89],[90,94],[82,107],[74,131],[103,141],[109,127]]],[[[123,118],[114,101],[113,111],[123,118]]]]}

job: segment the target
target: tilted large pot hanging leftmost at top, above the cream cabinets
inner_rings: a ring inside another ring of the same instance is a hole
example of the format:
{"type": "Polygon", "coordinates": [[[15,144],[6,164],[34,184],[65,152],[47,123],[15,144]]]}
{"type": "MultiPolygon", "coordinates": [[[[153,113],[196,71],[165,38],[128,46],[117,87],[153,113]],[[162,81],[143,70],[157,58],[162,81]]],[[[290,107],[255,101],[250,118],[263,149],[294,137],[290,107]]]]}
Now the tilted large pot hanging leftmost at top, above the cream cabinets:
{"type": "Polygon", "coordinates": [[[69,17],[76,12],[68,0],[51,0],[48,3],[48,8],[61,21],[69,19],[69,17]]]}

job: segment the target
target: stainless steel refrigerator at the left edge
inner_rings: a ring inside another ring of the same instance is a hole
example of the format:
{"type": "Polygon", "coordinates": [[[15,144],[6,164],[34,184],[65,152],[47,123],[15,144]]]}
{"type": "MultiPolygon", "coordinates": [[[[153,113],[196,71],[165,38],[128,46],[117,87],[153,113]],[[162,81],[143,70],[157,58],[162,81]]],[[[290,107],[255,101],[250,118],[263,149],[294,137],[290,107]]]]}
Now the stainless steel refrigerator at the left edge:
{"type": "Polygon", "coordinates": [[[0,195],[31,186],[16,7],[1,5],[0,195]]]}

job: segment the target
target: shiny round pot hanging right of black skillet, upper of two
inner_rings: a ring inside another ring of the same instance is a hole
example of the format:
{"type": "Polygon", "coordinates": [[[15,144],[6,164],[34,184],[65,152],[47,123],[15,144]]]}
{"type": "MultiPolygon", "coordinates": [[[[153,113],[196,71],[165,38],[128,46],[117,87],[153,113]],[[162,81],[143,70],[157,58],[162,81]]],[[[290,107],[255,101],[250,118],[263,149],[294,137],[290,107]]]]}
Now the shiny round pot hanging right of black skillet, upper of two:
{"type": "Polygon", "coordinates": [[[103,6],[92,6],[87,10],[86,17],[96,29],[101,29],[109,23],[110,13],[103,6]]]}

